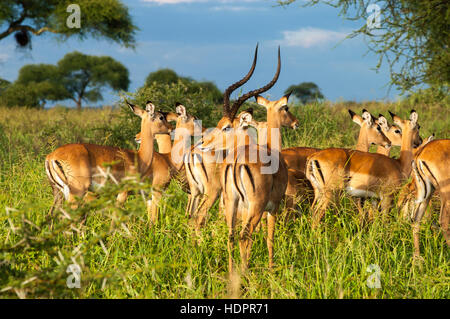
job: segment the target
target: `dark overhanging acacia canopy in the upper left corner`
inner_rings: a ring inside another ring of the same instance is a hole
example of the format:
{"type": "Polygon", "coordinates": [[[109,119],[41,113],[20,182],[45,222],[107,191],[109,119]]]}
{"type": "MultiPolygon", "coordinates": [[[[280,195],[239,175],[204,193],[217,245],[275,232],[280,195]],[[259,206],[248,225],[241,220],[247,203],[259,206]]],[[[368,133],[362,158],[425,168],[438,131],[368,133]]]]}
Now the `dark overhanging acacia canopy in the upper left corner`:
{"type": "Polygon", "coordinates": [[[81,12],[80,28],[70,28],[67,12],[72,0],[2,0],[0,2],[0,41],[14,34],[19,46],[31,37],[50,32],[59,39],[71,36],[107,38],[125,47],[135,44],[137,27],[128,8],[120,0],[77,0],[81,12]]]}

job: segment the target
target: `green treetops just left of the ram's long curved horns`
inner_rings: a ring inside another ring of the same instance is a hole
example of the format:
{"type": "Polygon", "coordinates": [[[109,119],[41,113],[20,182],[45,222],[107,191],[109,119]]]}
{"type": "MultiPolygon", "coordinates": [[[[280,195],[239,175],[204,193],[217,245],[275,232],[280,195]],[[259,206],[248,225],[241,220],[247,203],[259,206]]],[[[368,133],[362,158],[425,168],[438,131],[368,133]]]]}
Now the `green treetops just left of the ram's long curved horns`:
{"type": "Polygon", "coordinates": [[[204,93],[203,96],[209,96],[211,102],[221,103],[222,92],[211,81],[198,82],[190,77],[179,76],[171,69],[160,69],[150,73],[145,80],[145,86],[149,87],[152,84],[176,84],[182,82],[187,88],[187,94],[204,93]]]}

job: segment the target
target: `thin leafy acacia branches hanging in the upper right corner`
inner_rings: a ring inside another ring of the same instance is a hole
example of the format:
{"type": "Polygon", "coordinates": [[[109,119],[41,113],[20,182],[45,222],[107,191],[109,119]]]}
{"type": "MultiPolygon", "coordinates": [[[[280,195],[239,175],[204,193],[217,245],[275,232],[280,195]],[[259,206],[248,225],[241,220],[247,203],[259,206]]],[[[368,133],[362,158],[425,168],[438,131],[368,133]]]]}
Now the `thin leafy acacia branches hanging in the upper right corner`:
{"type": "MultiPolygon", "coordinates": [[[[277,0],[288,5],[296,0],[277,0]]],[[[359,20],[362,25],[349,38],[362,35],[369,50],[390,68],[391,84],[410,90],[423,83],[448,94],[450,82],[450,5],[448,0],[311,0],[313,6],[326,3],[340,9],[339,15],[359,20]],[[379,23],[374,24],[379,10],[379,23]]]]}

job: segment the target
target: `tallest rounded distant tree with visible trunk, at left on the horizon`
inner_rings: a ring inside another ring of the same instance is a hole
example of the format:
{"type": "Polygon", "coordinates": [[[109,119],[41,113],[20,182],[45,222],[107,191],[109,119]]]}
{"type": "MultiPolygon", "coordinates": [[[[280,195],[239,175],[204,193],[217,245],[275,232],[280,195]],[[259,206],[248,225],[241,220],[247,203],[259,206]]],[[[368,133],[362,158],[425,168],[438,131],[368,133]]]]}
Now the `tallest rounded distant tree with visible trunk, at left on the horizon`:
{"type": "Polygon", "coordinates": [[[81,109],[83,100],[102,100],[102,87],[127,90],[130,84],[127,68],[109,56],[91,56],[76,51],[68,53],[58,61],[58,73],[61,85],[77,109],[81,109]]]}

